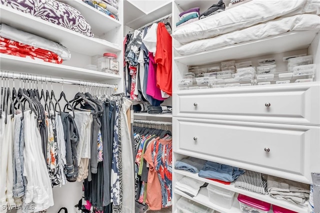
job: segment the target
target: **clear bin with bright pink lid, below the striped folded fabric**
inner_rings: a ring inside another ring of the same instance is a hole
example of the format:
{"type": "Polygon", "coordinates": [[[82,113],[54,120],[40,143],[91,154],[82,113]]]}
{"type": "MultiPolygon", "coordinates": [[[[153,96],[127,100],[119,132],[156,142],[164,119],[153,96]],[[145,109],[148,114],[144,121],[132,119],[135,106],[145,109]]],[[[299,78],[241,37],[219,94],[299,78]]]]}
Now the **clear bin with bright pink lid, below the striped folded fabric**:
{"type": "Polygon", "coordinates": [[[270,203],[249,197],[243,194],[238,195],[241,212],[245,213],[268,213],[270,203]]]}

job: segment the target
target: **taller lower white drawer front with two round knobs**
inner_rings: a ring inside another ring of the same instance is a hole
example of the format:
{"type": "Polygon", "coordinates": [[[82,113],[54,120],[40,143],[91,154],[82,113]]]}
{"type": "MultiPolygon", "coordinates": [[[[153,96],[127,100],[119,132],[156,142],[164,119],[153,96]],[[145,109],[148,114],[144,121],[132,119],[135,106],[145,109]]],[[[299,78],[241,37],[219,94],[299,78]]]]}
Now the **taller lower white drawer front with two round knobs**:
{"type": "Polygon", "coordinates": [[[319,171],[318,126],[174,118],[174,151],[308,182],[319,171]]]}

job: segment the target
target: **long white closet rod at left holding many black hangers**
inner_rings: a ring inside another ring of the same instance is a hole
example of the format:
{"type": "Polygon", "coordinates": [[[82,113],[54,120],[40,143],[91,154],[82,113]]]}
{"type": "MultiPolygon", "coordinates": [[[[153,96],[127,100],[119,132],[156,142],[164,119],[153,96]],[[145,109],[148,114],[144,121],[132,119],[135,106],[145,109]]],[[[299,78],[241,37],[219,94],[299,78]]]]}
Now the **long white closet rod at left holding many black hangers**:
{"type": "Polygon", "coordinates": [[[28,73],[14,73],[7,70],[1,70],[1,78],[10,79],[21,79],[21,80],[31,80],[31,81],[43,81],[52,83],[62,83],[62,84],[72,84],[72,85],[82,85],[82,86],[94,86],[94,87],[104,87],[104,88],[117,88],[117,84],[100,83],[85,80],[71,80],[63,79],[62,77],[56,78],[51,76],[34,75],[28,73]]]}

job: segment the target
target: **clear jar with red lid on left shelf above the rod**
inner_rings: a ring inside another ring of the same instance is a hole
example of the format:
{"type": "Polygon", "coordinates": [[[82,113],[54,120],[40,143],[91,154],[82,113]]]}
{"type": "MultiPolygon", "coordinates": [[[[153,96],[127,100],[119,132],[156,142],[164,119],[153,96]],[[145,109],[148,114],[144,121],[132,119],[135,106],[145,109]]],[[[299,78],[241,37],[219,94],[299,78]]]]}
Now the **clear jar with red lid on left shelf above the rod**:
{"type": "Polygon", "coordinates": [[[114,53],[105,52],[103,57],[98,59],[98,71],[111,74],[119,74],[119,61],[114,53]]]}

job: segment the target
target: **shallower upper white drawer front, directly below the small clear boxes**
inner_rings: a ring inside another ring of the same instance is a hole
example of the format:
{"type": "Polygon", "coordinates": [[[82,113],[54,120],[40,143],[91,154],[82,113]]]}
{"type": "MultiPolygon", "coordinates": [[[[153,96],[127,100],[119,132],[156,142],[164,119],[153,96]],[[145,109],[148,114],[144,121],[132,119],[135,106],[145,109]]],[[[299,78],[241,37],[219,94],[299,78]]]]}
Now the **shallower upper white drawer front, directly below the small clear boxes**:
{"type": "Polygon", "coordinates": [[[320,86],[314,83],[182,91],[175,96],[175,115],[318,125],[319,90],[320,86]]]}

